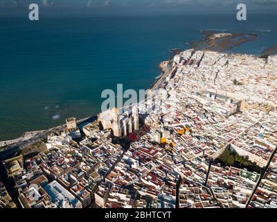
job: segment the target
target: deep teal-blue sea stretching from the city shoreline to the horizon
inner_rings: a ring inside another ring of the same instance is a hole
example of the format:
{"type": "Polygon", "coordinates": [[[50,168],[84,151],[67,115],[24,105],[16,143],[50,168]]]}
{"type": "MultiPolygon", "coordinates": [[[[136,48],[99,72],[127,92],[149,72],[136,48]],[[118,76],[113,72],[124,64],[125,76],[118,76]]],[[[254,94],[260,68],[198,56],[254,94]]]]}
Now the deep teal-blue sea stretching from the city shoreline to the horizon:
{"type": "Polygon", "coordinates": [[[0,17],[0,140],[100,112],[104,89],[148,89],[170,49],[187,49],[200,30],[257,33],[233,52],[277,44],[277,15],[0,17]]]}

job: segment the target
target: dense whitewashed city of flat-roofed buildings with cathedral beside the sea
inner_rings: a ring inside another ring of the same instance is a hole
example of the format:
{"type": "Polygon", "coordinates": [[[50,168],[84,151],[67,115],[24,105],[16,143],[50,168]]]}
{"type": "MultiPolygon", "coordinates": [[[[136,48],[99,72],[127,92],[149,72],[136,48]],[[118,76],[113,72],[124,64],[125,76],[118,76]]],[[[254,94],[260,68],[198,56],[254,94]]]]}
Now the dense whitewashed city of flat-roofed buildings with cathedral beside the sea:
{"type": "Polygon", "coordinates": [[[155,98],[150,112],[142,102],[132,114],[108,110],[80,129],[68,119],[46,151],[3,162],[19,204],[277,207],[276,64],[277,56],[180,53],[159,88],[166,100],[155,98]],[[131,134],[127,148],[115,142],[131,134]],[[215,164],[226,148],[265,173],[215,164]]]}

